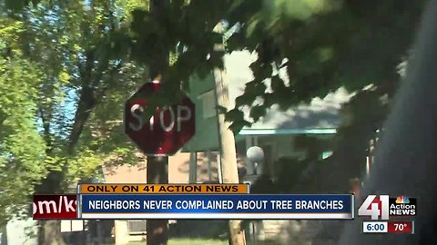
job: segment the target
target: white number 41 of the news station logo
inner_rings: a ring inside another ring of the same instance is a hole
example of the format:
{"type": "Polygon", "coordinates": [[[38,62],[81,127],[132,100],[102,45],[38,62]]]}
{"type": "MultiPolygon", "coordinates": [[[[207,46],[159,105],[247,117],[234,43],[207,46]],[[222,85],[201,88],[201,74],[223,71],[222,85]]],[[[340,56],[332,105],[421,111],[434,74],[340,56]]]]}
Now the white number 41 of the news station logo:
{"type": "Polygon", "coordinates": [[[367,196],[358,209],[358,216],[370,216],[371,220],[389,220],[389,196],[367,196]]]}

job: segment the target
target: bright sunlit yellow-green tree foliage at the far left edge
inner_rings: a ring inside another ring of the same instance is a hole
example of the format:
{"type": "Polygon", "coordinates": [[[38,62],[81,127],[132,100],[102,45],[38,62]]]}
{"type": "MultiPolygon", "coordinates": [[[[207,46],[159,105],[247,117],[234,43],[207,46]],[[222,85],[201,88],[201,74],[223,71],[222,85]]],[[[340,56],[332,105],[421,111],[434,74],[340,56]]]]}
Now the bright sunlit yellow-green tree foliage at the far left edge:
{"type": "Polygon", "coordinates": [[[36,127],[37,91],[42,81],[36,64],[22,59],[16,36],[24,25],[0,19],[0,224],[23,214],[23,205],[50,167],[46,144],[36,127]]]}

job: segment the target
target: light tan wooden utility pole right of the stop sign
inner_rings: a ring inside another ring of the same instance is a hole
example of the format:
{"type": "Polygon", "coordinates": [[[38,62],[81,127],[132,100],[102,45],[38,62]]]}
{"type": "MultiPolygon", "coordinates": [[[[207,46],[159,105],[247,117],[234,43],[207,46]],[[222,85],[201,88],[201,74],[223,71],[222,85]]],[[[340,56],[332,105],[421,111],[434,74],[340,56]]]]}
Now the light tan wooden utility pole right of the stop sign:
{"type": "MultiPolygon", "coordinates": [[[[215,30],[223,33],[223,26],[219,23],[215,30]]],[[[224,44],[217,44],[216,50],[224,50],[224,44]]],[[[215,69],[217,103],[220,107],[229,109],[228,77],[224,70],[215,69]]],[[[229,129],[230,123],[226,122],[225,114],[218,113],[220,135],[220,168],[222,180],[220,183],[239,183],[239,170],[237,166],[237,151],[235,149],[234,132],[229,129]]],[[[241,220],[229,220],[229,245],[244,245],[246,240],[241,230],[241,220]]]]}

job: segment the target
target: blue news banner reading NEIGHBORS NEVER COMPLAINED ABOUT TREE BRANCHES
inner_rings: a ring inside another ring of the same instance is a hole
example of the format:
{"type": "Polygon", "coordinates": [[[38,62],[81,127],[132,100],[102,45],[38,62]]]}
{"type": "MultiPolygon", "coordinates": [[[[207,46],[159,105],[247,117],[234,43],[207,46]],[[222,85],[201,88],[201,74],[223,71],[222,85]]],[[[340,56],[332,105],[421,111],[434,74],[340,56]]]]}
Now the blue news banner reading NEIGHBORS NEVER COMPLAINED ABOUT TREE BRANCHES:
{"type": "Polygon", "coordinates": [[[82,219],[350,220],[353,195],[84,194],[82,219]]]}

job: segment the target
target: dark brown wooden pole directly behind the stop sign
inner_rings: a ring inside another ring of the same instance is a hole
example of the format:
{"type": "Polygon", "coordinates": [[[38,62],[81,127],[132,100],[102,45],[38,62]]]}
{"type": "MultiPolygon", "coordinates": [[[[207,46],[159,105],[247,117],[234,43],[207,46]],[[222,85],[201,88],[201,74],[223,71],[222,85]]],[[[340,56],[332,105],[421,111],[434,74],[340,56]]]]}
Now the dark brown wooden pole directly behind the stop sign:
{"type": "MultiPolygon", "coordinates": [[[[169,0],[151,0],[150,14],[155,20],[166,15],[169,0]]],[[[160,42],[160,40],[157,40],[160,42]]],[[[152,80],[161,82],[161,75],[168,70],[169,51],[158,50],[150,64],[152,80]]],[[[168,156],[147,156],[147,183],[168,183],[168,156]]],[[[168,243],[168,220],[147,220],[147,245],[166,245],[168,243]]]]}

